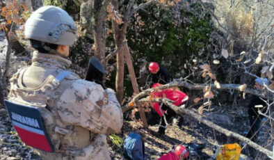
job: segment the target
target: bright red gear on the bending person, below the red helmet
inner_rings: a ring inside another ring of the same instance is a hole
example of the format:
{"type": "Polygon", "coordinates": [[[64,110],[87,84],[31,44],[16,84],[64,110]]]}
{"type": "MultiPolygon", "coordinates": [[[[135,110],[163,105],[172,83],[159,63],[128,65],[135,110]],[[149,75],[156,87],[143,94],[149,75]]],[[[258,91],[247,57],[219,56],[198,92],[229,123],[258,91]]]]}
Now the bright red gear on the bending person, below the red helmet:
{"type": "MultiPolygon", "coordinates": [[[[152,88],[156,88],[162,86],[160,83],[154,83],[152,88]]],[[[183,104],[184,102],[186,102],[188,100],[188,96],[186,95],[186,93],[182,92],[179,89],[173,90],[172,88],[168,88],[166,90],[159,90],[159,91],[155,91],[152,93],[152,97],[157,98],[157,97],[166,97],[173,102],[173,104],[175,106],[179,106],[180,104],[183,104]]],[[[153,108],[155,109],[155,111],[160,115],[163,116],[164,111],[161,110],[160,111],[160,105],[159,103],[153,103],[153,108]]]]}

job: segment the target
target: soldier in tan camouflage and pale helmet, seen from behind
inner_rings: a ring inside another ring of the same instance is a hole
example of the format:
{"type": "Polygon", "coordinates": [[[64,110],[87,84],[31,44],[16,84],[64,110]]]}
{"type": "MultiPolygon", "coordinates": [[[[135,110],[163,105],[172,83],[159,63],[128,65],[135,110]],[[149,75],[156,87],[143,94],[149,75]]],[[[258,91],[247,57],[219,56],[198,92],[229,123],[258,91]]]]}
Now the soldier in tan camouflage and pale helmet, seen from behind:
{"type": "Polygon", "coordinates": [[[42,159],[111,159],[106,135],[120,131],[122,110],[113,90],[67,72],[71,62],[66,57],[76,33],[65,10],[35,10],[25,35],[38,51],[31,66],[10,79],[8,99],[40,109],[54,146],[54,152],[38,150],[42,159]]]}

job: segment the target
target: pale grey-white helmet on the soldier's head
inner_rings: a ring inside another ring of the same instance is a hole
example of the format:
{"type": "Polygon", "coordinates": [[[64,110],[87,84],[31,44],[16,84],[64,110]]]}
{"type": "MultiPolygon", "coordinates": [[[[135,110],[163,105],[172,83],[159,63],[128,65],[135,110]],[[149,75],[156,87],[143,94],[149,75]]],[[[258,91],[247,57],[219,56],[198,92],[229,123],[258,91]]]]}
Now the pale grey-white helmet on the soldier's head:
{"type": "Polygon", "coordinates": [[[77,28],[65,10],[56,6],[42,6],[26,21],[25,36],[56,45],[73,45],[77,28]]]}

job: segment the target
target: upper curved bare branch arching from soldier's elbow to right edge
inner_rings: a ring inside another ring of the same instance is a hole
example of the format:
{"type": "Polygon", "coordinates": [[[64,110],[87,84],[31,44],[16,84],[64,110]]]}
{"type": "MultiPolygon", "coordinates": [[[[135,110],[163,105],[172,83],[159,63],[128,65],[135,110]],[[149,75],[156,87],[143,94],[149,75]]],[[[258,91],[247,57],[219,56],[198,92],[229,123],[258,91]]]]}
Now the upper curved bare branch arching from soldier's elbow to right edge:
{"type": "Polygon", "coordinates": [[[122,111],[128,111],[129,109],[132,109],[134,107],[134,103],[136,103],[136,101],[138,101],[138,99],[141,99],[143,97],[147,97],[147,95],[150,95],[150,93],[154,92],[155,90],[161,90],[161,89],[166,89],[166,88],[172,88],[172,87],[186,87],[190,90],[202,90],[206,87],[210,87],[211,89],[216,89],[216,90],[239,90],[241,92],[244,93],[249,93],[251,95],[257,95],[259,97],[263,97],[266,99],[274,99],[274,95],[272,93],[264,93],[261,92],[259,90],[255,90],[255,89],[250,89],[250,88],[245,88],[245,90],[242,90],[241,85],[239,84],[220,84],[220,87],[217,88],[216,85],[211,84],[191,84],[191,83],[187,83],[185,81],[172,81],[168,84],[165,84],[163,86],[160,87],[156,87],[156,88],[150,88],[147,90],[144,90],[143,92],[140,92],[138,95],[136,95],[131,102],[129,102],[129,105],[124,106],[122,108],[122,111]],[[131,105],[132,104],[132,105],[131,105]]]}

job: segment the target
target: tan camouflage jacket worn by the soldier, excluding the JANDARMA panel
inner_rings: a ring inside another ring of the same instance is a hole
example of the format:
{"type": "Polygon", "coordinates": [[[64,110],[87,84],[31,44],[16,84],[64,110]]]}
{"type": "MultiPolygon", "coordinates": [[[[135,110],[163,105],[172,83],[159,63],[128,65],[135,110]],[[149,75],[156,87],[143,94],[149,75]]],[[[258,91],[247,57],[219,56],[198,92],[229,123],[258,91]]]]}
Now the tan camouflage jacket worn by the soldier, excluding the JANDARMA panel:
{"type": "Polygon", "coordinates": [[[54,153],[38,150],[43,159],[111,159],[106,134],[122,127],[115,92],[73,72],[56,83],[70,64],[61,56],[34,52],[31,66],[10,79],[8,99],[49,110],[42,115],[54,153]]]}

